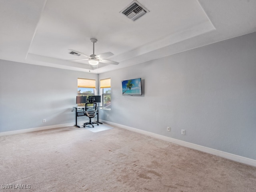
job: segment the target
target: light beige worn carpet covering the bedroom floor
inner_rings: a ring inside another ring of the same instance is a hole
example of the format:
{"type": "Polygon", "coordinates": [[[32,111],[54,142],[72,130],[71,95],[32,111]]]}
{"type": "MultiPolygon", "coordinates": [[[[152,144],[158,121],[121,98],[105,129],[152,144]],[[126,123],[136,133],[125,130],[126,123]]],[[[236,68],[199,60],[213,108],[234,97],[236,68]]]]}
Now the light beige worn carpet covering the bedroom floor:
{"type": "Polygon", "coordinates": [[[117,127],[2,136],[0,162],[8,192],[256,191],[256,167],[117,127]]]}

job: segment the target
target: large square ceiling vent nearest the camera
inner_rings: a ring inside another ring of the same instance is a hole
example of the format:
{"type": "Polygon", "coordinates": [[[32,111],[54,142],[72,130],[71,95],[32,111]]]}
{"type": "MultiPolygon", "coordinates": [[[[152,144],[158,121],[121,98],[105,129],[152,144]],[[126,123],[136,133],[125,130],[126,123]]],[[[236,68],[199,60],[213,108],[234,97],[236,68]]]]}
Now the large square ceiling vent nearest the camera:
{"type": "Polygon", "coordinates": [[[120,13],[124,14],[129,19],[135,21],[140,18],[142,15],[149,12],[145,7],[143,7],[140,3],[136,0],[133,1],[130,5],[124,8],[120,13]]]}

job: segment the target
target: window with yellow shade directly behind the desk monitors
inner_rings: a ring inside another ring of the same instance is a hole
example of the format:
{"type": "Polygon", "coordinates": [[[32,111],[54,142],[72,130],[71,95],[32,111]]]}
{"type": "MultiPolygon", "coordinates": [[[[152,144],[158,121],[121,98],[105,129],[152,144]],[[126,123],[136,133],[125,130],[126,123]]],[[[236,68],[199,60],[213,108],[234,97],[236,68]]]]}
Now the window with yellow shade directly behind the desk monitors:
{"type": "MultiPolygon", "coordinates": [[[[94,95],[96,88],[96,80],[94,79],[77,79],[77,96],[91,96],[94,95]]],[[[84,106],[85,104],[78,104],[84,106]]]]}

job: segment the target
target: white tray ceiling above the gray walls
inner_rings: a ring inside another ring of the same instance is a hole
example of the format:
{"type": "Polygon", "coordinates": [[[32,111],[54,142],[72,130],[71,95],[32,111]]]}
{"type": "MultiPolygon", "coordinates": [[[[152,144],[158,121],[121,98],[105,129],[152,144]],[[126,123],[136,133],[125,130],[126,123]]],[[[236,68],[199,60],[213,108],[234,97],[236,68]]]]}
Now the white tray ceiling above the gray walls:
{"type": "Polygon", "coordinates": [[[256,0],[0,0],[0,59],[102,73],[256,31],[256,0]],[[92,68],[84,56],[112,52],[118,65],[92,68]]]}

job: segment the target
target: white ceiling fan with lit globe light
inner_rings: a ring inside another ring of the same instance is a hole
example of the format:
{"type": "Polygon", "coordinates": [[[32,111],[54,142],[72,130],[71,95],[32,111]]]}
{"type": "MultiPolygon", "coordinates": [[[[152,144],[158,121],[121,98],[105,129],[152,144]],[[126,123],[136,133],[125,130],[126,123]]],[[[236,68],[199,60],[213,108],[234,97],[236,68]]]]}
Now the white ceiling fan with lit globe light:
{"type": "Polygon", "coordinates": [[[112,52],[106,52],[106,53],[102,53],[102,54],[98,54],[98,55],[95,55],[94,54],[94,44],[98,41],[97,39],[90,39],[92,44],[93,44],[93,54],[91,54],[90,56],[82,53],[82,52],[79,52],[79,51],[76,51],[76,50],[72,50],[72,49],[69,49],[71,52],[69,52],[70,54],[73,54],[73,55],[77,55],[77,56],[80,56],[80,55],[83,55],[85,57],[87,57],[86,59],[75,59],[75,60],[70,60],[70,61],[78,61],[78,60],[89,60],[89,64],[92,65],[92,66],[97,66],[100,63],[105,63],[105,64],[112,64],[112,65],[118,65],[119,62],[116,62],[116,61],[111,61],[111,60],[107,60],[107,59],[104,59],[104,58],[108,58],[112,55],[114,55],[112,52]]]}

